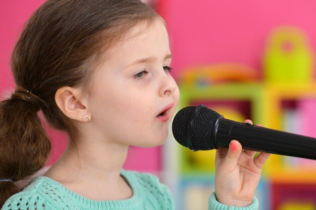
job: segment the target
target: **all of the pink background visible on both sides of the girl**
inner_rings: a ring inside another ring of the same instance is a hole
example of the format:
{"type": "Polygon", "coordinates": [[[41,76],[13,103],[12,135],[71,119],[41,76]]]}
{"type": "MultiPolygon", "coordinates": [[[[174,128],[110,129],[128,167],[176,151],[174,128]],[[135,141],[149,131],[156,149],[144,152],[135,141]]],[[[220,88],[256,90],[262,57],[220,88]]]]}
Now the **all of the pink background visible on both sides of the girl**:
{"type": "MultiPolygon", "coordinates": [[[[15,87],[9,62],[23,24],[43,0],[0,2],[0,95],[15,87]]],[[[302,0],[163,0],[159,12],[166,19],[173,53],[174,76],[195,64],[238,62],[261,72],[261,54],[269,32],[280,25],[294,25],[308,35],[316,49],[316,1],[302,0]]],[[[64,136],[50,132],[57,141],[64,136]]],[[[55,143],[54,162],[65,147],[55,143]]],[[[157,170],[159,148],[136,148],[127,168],[157,170]],[[145,157],[145,158],[144,158],[145,157]],[[141,161],[139,161],[141,160],[141,161]],[[154,161],[153,161],[154,160],[154,161]],[[147,162],[148,161],[148,162],[147,162]]]]}

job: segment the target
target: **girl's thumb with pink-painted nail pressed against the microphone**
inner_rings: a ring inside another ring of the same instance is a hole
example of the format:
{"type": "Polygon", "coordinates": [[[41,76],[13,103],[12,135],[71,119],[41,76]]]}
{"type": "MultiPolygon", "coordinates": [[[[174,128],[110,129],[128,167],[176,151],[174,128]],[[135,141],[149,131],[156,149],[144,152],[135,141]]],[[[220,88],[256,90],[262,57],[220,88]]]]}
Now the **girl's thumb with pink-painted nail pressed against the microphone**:
{"type": "Polygon", "coordinates": [[[232,140],[229,144],[229,149],[227,151],[227,155],[225,157],[225,165],[229,168],[235,168],[238,162],[238,159],[242,152],[241,144],[236,141],[232,140]]]}

